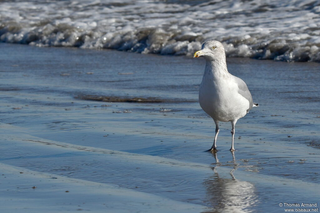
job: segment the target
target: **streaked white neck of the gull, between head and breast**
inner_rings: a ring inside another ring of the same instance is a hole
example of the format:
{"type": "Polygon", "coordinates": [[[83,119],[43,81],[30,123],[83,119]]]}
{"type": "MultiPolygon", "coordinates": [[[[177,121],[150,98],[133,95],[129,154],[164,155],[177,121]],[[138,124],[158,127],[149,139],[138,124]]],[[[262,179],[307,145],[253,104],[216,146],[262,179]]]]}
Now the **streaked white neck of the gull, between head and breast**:
{"type": "Polygon", "coordinates": [[[213,78],[220,78],[229,74],[226,60],[206,61],[204,74],[212,75],[213,78]]]}

